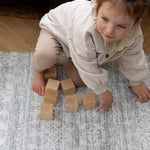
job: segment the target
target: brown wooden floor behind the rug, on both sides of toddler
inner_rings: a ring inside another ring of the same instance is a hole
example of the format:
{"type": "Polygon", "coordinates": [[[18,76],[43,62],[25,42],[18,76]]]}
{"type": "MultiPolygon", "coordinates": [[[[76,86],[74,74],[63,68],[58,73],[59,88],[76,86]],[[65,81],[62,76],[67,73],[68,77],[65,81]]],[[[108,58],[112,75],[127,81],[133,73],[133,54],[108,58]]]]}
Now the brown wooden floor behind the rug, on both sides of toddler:
{"type": "MultiPolygon", "coordinates": [[[[34,51],[39,20],[0,16],[0,51],[34,51]]],[[[144,51],[150,53],[150,18],[143,19],[144,51]]]]}

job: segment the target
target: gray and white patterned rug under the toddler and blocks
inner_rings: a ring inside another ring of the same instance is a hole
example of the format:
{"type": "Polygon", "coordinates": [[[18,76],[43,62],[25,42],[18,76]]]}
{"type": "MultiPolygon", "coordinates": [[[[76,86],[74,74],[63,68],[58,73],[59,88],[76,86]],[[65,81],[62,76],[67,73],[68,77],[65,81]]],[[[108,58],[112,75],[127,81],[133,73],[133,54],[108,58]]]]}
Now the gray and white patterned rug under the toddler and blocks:
{"type": "MultiPolygon", "coordinates": [[[[60,91],[53,121],[40,121],[43,97],[31,88],[33,53],[0,52],[0,150],[149,150],[150,102],[141,104],[128,88],[128,82],[115,62],[103,67],[114,96],[113,108],[106,112],[65,112],[60,91]]],[[[150,58],[147,55],[150,66],[150,58]]],[[[58,65],[58,80],[66,78],[65,56],[58,65]]],[[[150,73],[145,80],[150,87],[150,73]]],[[[88,88],[77,88],[80,99],[88,88]]],[[[98,101],[98,97],[97,101],[98,101]]],[[[98,105],[97,105],[98,106],[98,105]]]]}

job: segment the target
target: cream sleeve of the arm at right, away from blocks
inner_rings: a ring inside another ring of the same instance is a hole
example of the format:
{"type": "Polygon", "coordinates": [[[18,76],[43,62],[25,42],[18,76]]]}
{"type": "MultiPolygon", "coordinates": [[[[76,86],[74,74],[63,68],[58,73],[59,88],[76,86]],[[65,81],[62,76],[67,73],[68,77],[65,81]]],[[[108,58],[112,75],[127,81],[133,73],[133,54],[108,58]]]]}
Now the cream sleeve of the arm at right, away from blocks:
{"type": "Polygon", "coordinates": [[[148,65],[142,46],[143,37],[139,36],[119,60],[120,70],[129,80],[129,85],[132,86],[139,85],[148,73],[148,65]]]}

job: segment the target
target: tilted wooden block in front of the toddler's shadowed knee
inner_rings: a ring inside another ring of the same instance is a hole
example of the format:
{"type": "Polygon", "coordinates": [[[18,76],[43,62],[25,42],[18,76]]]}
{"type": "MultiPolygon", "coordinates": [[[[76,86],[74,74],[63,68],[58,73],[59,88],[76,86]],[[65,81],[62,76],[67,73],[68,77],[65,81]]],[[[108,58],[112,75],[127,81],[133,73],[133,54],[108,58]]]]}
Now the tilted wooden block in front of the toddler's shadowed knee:
{"type": "Polygon", "coordinates": [[[72,79],[66,79],[66,80],[61,81],[61,89],[62,89],[64,96],[74,94],[75,85],[72,79]]]}

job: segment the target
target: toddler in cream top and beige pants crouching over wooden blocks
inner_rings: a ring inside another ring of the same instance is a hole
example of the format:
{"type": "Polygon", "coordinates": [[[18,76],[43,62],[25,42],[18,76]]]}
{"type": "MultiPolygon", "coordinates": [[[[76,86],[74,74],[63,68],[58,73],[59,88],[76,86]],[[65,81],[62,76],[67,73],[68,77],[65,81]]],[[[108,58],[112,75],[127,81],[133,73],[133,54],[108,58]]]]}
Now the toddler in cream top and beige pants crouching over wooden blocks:
{"type": "Polygon", "coordinates": [[[52,67],[63,49],[69,58],[68,76],[78,86],[84,84],[99,95],[98,111],[112,107],[108,72],[101,64],[118,60],[122,74],[141,102],[150,100],[143,82],[148,72],[140,22],[145,0],[76,0],[45,14],[32,64],[33,91],[44,95],[44,71],[52,67]],[[76,74],[76,76],[73,76],[76,74]]]}

